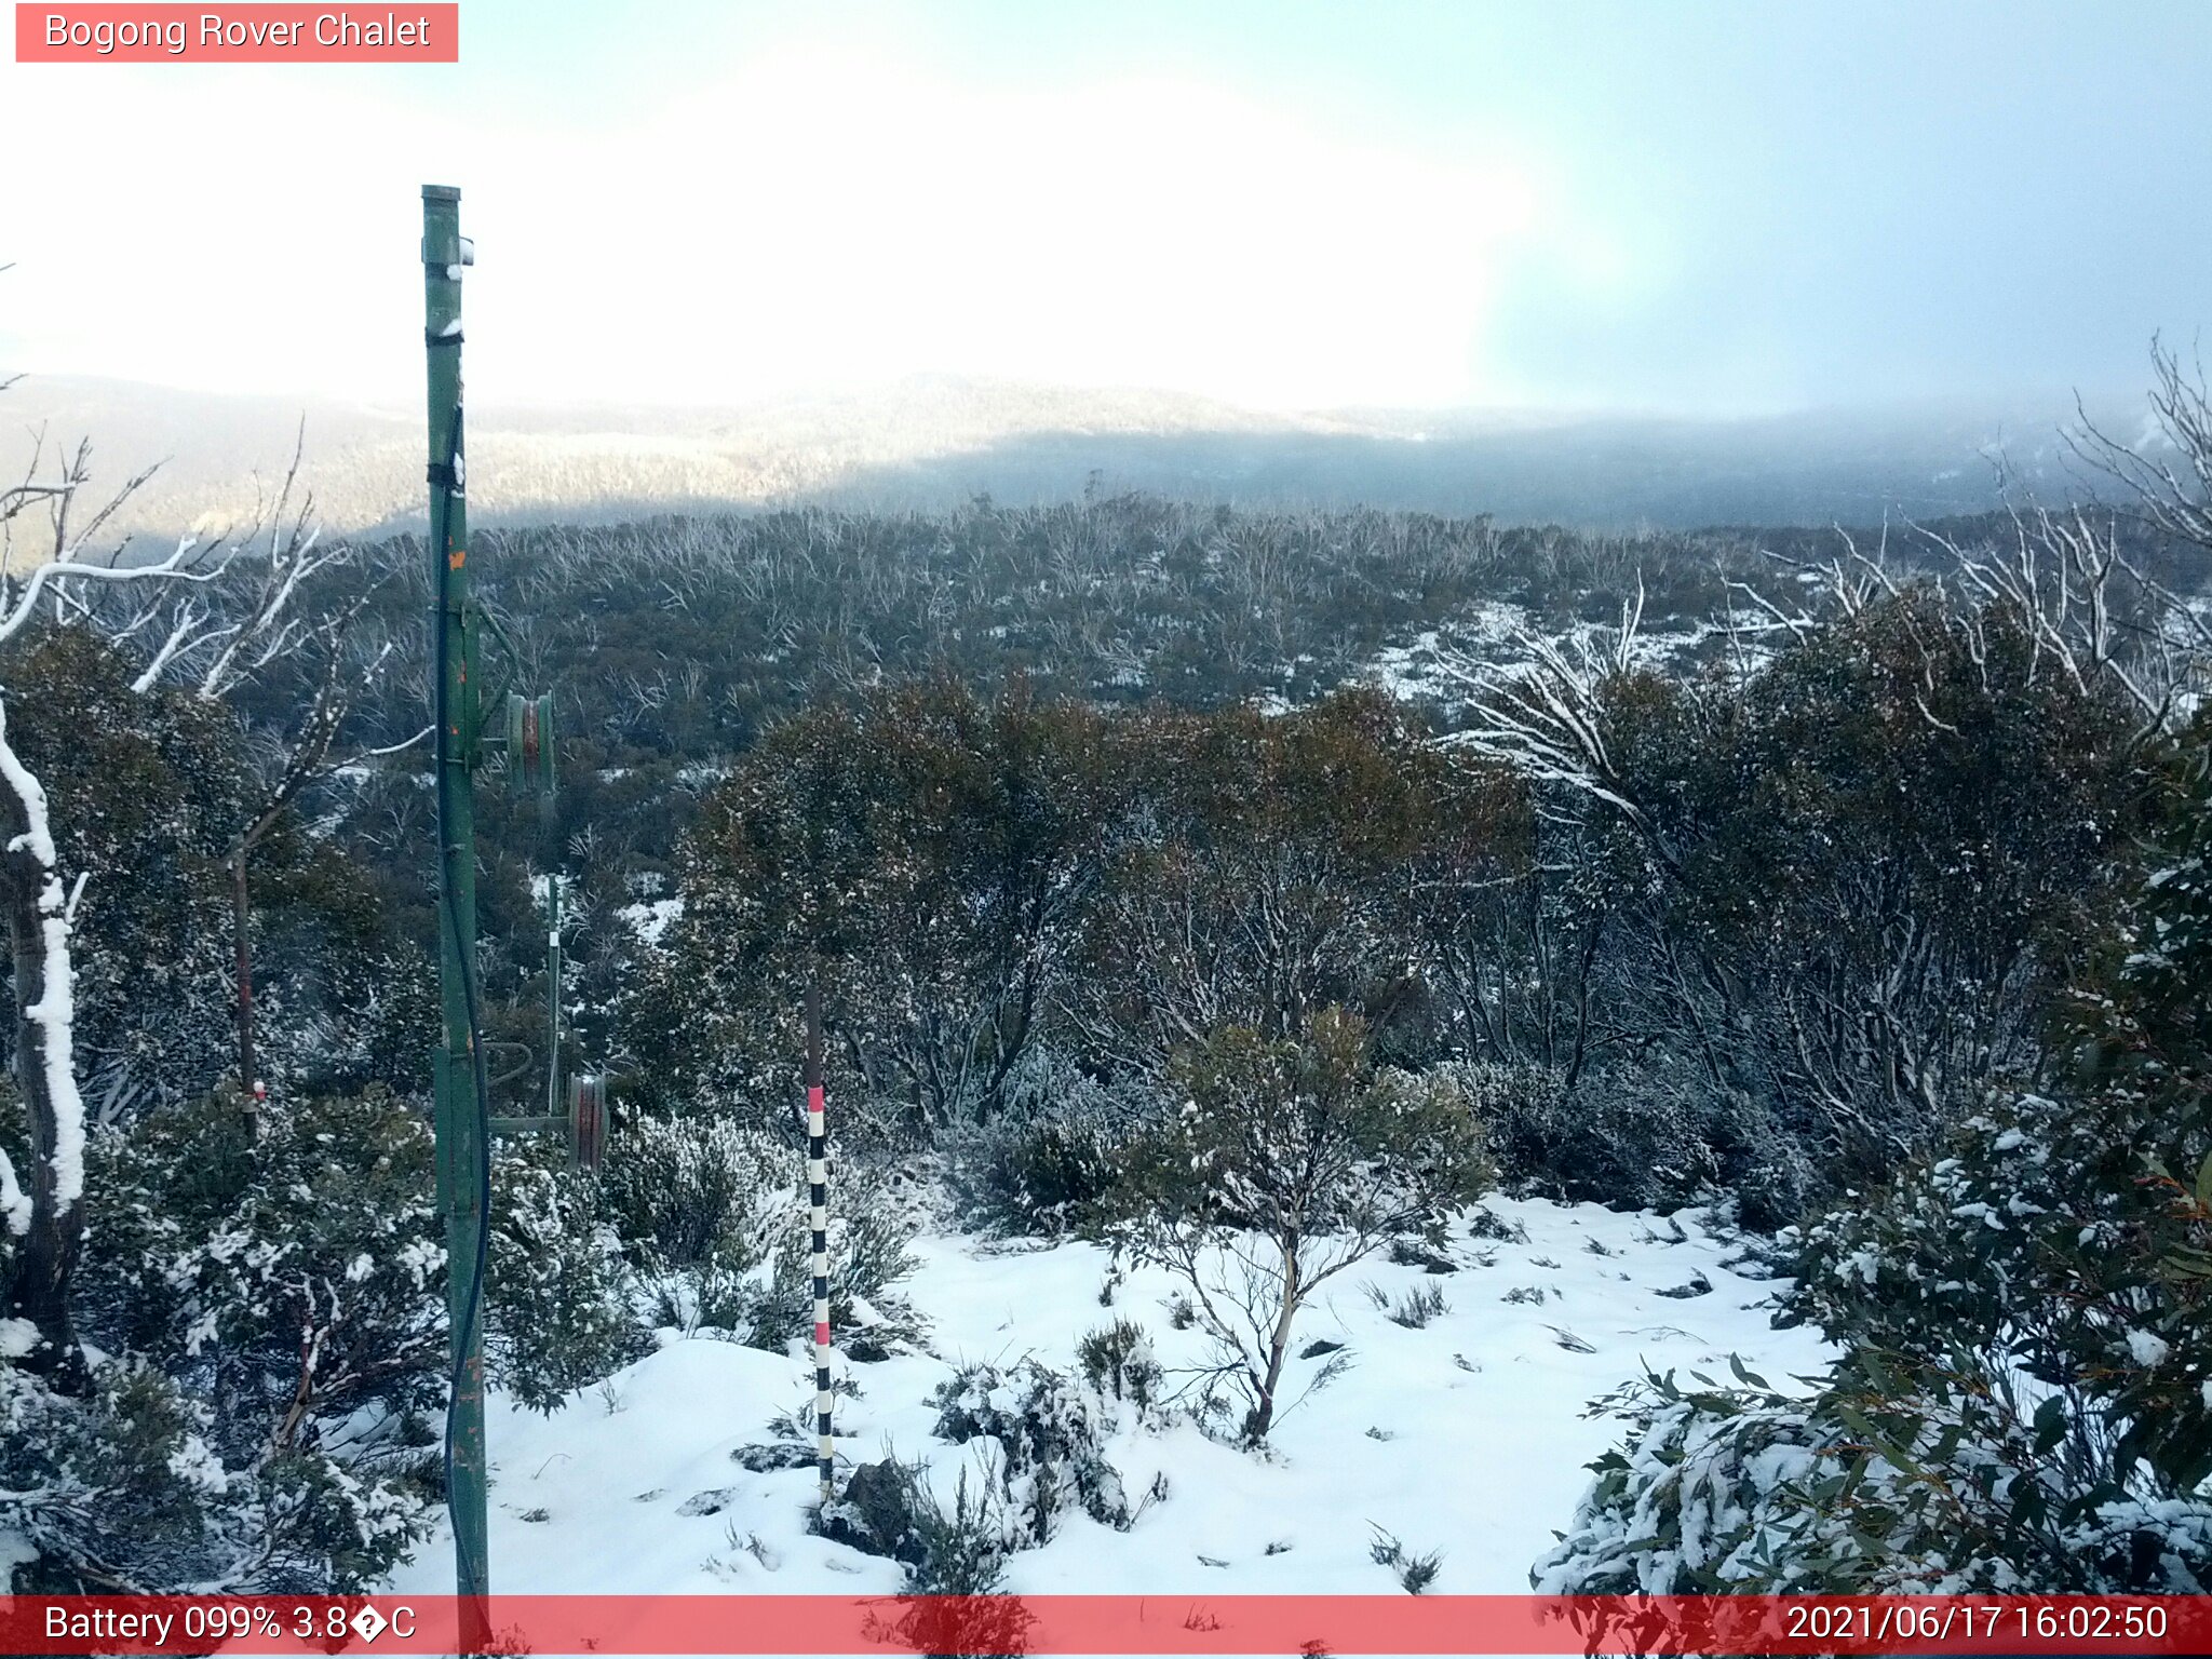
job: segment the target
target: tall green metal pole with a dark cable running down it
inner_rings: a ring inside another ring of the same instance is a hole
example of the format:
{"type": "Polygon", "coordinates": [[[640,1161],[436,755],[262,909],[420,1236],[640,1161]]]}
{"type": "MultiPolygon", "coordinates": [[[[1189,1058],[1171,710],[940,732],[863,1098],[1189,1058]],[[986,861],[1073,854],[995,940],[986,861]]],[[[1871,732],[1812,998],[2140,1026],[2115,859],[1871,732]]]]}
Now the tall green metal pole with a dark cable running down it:
{"type": "Polygon", "coordinates": [[[489,1146],[476,1048],[476,624],[469,608],[469,507],[460,420],[460,190],[422,186],[422,343],[429,358],[431,646],[438,657],[438,984],[445,1044],[436,1053],[438,1208],[445,1214],[453,1400],[447,1420],[447,1509],[453,1588],[491,1588],[484,1526],[484,1194],[489,1146]]]}

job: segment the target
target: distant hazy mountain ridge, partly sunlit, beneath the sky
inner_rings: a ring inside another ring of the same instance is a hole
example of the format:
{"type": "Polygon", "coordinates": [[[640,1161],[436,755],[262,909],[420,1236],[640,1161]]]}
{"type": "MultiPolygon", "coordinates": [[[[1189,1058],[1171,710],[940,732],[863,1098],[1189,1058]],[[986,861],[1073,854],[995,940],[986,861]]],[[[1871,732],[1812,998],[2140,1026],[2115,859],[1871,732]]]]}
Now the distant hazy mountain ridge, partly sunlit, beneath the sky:
{"type": "MultiPolygon", "coordinates": [[[[31,434],[95,445],[100,478],[164,467],[117,518],[166,535],[246,524],[305,422],[303,476],[332,531],[422,515],[422,414],[131,380],[33,376],[0,403],[0,471],[31,434]]],[[[478,522],[606,522],[792,502],[942,507],[978,493],[1066,500],[1086,487],[1245,507],[1371,504],[1586,529],[1871,522],[1997,500],[2017,478],[2073,495],[2057,422],[2070,409],[1911,405],[1745,420],[1531,411],[1263,414],[1181,394],[956,376],[730,409],[577,403],[469,407],[478,522]]],[[[2128,431],[2137,418],[2115,416],[2128,431]]]]}

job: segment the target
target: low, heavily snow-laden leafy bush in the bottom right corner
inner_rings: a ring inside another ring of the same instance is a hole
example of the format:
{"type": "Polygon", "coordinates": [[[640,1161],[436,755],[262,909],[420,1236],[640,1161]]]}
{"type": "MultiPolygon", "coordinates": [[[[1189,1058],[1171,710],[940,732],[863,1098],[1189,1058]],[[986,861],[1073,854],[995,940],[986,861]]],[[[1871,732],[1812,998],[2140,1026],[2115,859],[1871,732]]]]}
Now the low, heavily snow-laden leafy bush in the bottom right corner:
{"type": "Polygon", "coordinates": [[[2212,1586],[2212,1502],[2086,1486],[2062,1396],[1869,1349],[1809,1400],[1747,1374],[1632,1398],[1628,1449],[1531,1573],[1544,1595],[2212,1586]]]}

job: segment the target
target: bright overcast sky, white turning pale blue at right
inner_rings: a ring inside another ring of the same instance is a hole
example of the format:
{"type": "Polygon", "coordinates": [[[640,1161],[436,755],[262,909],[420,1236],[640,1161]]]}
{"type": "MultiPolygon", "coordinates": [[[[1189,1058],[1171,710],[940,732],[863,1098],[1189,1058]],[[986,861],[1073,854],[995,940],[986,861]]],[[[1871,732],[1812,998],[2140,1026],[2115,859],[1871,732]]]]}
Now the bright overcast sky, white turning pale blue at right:
{"type": "Polygon", "coordinates": [[[1263,407],[2132,389],[2212,321],[2212,4],[462,0],[462,64],[0,64],[0,367],[916,372],[1263,407]]]}

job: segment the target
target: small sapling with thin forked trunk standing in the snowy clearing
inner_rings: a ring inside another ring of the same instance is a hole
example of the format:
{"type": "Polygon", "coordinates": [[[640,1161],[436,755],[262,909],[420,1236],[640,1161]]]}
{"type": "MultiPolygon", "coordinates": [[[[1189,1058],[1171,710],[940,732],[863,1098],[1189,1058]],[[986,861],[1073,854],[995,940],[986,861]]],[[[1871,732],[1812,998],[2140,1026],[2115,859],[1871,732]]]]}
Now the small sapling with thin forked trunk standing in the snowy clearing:
{"type": "Polygon", "coordinates": [[[1433,1234],[1491,1164],[1458,1086],[1376,1068],[1343,1009],[1296,1037],[1223,1026],[1179,1051],[1170,1079],[1181,1110],[1133,1150],[1119,1237],[1188,1285],[1214,1343],[1201,1383],[1243,1400],[1259,1442],[1283,1409],[1298,1310],[1389,1239],[1433,1234]]]}

